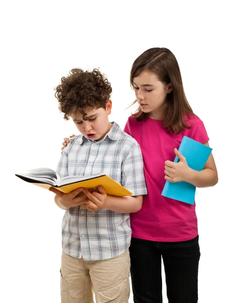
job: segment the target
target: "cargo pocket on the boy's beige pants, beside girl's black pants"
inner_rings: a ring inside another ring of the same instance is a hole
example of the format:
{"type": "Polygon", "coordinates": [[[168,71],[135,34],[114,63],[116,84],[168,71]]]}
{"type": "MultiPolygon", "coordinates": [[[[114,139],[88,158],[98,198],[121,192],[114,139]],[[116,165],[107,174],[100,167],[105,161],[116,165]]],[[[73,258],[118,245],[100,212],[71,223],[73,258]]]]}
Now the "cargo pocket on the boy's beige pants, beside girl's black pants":
{"type": "MultiPolygon", "coordinates": [[[[129,298],[129,278],[125,277],[122,280],[119,280],[115,284],[102,288],[97,292],[97,301],[98,303],[106,303],[110,301],[114,301],[119,296],[122,297],[122,300],[117,300],[117,302],[126,303],[129,298]]],[[[116,302],[116,300],[114,301],[116,302]]]]}

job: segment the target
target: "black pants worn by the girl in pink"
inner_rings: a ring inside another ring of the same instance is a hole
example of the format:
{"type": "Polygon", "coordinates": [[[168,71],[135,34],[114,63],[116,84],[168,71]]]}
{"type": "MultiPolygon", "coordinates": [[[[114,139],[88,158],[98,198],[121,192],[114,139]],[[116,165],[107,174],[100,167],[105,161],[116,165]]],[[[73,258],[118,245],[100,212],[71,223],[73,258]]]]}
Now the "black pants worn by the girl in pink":
{"type": "Polygon", "coordinates": [[[131,282],[135,303],[162,303],[162,258],[169,303],[196,303],[200,259],[198,236],[182,242],[131,238],[131,282]]]}

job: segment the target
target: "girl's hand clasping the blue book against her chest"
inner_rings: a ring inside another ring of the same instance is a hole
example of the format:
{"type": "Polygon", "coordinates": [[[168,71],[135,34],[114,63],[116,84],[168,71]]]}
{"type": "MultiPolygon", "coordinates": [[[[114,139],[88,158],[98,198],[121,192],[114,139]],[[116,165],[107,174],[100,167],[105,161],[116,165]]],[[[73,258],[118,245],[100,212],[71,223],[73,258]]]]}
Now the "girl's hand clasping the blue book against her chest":
{"type": "Polygon", "coordinates": [[[174,149],[176,156],[179,158],[179,162],[165,161],[165,180],[169,182],[185,181],[186,176],[190,173],[191,168],[188,167],[186,158],[182,156],[179,150],[174,149]]]}

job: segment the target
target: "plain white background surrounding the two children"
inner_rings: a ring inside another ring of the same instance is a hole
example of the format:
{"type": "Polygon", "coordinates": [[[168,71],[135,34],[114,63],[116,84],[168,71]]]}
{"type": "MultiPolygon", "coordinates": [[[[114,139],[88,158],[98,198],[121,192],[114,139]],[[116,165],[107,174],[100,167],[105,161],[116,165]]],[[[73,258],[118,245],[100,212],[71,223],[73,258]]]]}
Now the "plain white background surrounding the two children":
{"type": "MultiPolygon", "coordinates": [[[[196,192],[199,302],[249,302],[246,1],[6,3],[0,16],[1,302],[60,302],[64,211],[53,193],[15,177],[55,169],[63,138],[77,133],[59,113],[54,87],[74,67],[99,68],[113,87],[111,120],[123,128],[134,99],[131,65],[158,46],[178,60],[219,172],[215,187],[196,192]]],[[[166,302],[165,283],[163,291],[166,302]]]]}

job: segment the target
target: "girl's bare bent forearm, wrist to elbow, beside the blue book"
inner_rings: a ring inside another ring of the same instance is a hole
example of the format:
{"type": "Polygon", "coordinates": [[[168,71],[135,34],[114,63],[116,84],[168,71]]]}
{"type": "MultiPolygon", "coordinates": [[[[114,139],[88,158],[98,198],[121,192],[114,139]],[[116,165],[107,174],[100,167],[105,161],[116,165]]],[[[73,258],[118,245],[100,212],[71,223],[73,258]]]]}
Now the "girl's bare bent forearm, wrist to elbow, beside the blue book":
{"type": "Polygon", "coordinates": [[[196,187],[210,187],[217,184],[218,175],[217,172],[210,168],[206,168],[200,172],[192,169],[184,181],[196,187]]]}

